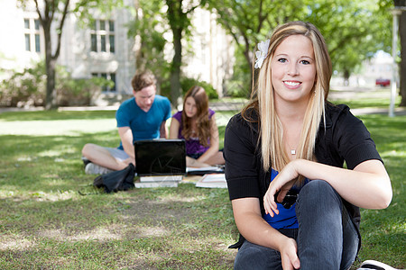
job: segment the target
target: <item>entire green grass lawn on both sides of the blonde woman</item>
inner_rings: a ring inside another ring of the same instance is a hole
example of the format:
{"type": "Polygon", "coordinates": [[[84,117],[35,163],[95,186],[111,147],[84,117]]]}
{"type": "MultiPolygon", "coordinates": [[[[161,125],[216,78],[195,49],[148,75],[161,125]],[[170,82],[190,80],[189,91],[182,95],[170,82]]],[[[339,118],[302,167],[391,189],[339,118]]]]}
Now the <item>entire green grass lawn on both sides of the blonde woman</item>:
{"type": "MultiPolygon", "coordinates": [[[[217,112],[221,135],[233,113],[217,112]]],[[[96,175],[85,175],[80,149],[87,142],[116,146],[114,116],[0,114],[0,268],[232,269],[236,251],[227,246],[238,233],[226,189],[93,190],[96,175]]],[[[360,260],[404,268],[406,116],[360,118],[393,187],[388,209],[362,210],[360,260]]]]}

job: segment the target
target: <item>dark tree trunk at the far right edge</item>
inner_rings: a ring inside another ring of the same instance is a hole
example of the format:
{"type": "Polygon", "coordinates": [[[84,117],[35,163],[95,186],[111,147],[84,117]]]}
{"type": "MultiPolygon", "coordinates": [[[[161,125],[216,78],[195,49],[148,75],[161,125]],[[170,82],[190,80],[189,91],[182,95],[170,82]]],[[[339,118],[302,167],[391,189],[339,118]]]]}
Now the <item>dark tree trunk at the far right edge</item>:
{"type": "Polygon", "coordinates": [[[401,107],[406,107],[406,11],[401,13],[399,20],[399,33],[401,36],[401,65],[400,65],[400,94],[401,107]]]}

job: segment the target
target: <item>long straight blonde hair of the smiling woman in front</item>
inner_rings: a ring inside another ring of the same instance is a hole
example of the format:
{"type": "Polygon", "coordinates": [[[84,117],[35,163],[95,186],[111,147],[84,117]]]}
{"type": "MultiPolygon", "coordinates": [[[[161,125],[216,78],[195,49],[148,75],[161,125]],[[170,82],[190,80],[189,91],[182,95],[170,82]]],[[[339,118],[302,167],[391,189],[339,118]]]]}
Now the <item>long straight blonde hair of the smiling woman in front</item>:
{"type": "Polygon", "coordinates": [[[281,121],[275,111],[271,61],[275,49],[291,35],[303,35],[309,38],[313,45],[317,70],[317,79],[312,89],[314,94],[309,99],[300,133],[300,142],[296,149],[297,158],[315,159],[314,148],[318,127],[324,116],[325,101],[328,97],[332,67],[326,42],[321,33],[311,23],[291,22],[277,27],[272,33],[268,55],[263,61],[256,84],[253,83],[251,103],[242,111],[242,115],[247,121],[253,121],[247,112],[248,109],[254,109],[258,113],[260,123],[260,141],[258,143],[261,145],[265,171],[269,170],[271,166],[281,171],[290,162],[282,141],[281,121]]]}

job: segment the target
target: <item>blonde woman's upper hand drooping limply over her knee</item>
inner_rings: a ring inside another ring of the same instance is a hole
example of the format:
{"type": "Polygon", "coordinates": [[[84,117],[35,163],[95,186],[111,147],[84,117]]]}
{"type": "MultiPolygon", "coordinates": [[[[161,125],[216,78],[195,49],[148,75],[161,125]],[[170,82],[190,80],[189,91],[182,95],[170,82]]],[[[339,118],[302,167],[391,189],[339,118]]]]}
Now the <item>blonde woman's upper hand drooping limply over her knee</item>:
{"type": "Polygon", "coordinates": [[[267,214],[269,213],[272,217],[274,216],[274,213],[279,214],[278,206],[275,202],[275,194],[279,192],[277,201],[283,201],[283,198],[286,193],[289,192],[298,176],[299,174],[296,171],[293,161],[288,163],[288,165],[276,175],[271,184],[269,184],[267,192],[263,196],[263,207],[267,214]]]}

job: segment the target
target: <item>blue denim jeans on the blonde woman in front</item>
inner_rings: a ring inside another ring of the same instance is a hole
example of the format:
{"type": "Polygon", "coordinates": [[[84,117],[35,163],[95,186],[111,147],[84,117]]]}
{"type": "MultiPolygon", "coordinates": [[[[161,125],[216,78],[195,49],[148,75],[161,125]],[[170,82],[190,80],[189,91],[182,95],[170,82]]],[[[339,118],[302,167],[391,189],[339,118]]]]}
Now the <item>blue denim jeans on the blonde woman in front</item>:
{"type": "MultiPolygon", "coordinates": [[[[349,269],[358,250],[358,233],[341,197],[330,184],[313,180],[296,202],[299,229],[280,229],[298,244],[300,269],[349,269]]],[[[245,240],[235,257],[235,269],[282,269],[281,255],[245,240]]]]}

